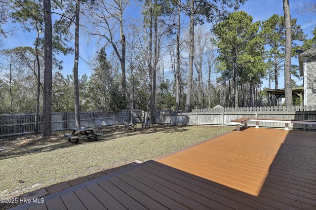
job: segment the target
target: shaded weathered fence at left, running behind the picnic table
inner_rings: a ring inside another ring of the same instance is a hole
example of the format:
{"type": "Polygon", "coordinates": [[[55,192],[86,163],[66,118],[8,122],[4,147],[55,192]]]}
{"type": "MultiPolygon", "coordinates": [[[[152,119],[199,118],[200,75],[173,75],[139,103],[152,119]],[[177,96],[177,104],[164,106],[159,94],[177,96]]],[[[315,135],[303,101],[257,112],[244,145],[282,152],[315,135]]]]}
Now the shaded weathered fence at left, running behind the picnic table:
{"type": "MultiPolygon", "coordinates": [[[[120,111],[91,111],[80,113],[80,123],[84,127],[123,124],[123,120],[133,123],[145,122],[147,112],[138,109],[120,111]]],[[[34,133],[35,114],[1,114],[0,139],[14,138],[34,133]]],[[[68,130],[76,127],[75,112],[53,112],[52,131],[68,130]]],[[[39,131],[42,129],[42,115],[39,114],[39,131]]]]}

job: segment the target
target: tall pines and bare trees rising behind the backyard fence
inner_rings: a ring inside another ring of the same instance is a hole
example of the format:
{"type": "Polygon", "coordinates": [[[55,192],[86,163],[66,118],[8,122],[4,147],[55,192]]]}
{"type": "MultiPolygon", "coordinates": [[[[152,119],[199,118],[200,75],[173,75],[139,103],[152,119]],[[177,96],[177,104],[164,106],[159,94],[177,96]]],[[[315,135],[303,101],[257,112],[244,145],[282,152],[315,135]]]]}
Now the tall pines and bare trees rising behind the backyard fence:
{"type": "Polygon", "coordinates": [[[42,112],[48,136],[51,111],[75,111],[80,127],[86,110],[139,108],[153,118],[157,109],[266,105],[262,79],[277,89],[282,71],[292,105],[291,75],[299,75],[290,60],[316,46],[316,29],[307,39],[288,0],[283,16],[262,22],[237,11],[244,2],[0,0],[0,113],[42,112]],[[141,17],[130,18],[131,7],[141,17]],[[9,23],[18,27],[4,30],[9,23]],[[33,45],[5,48],[19,31],[36,32],[33,45]],[[80,36],[96,40],[89,58],[80,56],[80,36]],[[74,55],[73,74],[62,73],[60,54],[74,55]],[[79,75],[79,62],[90,75],[79,75]]]}

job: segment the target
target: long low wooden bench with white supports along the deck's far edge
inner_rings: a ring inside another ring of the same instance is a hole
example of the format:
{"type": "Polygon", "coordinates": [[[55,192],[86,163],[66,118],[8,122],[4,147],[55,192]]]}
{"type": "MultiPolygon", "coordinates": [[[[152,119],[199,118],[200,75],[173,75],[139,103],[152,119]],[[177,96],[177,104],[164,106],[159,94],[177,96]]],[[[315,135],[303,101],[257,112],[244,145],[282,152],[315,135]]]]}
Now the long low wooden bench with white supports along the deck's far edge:
{"type": "Polygon", "coordinates": [[[240,131],[240,125],[244,125],[244,128],[247,128],[248,122],[255,122],[256,128],[259,128],[259,122],[285,123],[284,130],[288,130],[289,123],[316,125],[316,121],[313,121],[313,120],[267,119],[267,118],[240,118],[236,120],[231,120],[231,123],[237,126],[236,131],[240,131]]]}

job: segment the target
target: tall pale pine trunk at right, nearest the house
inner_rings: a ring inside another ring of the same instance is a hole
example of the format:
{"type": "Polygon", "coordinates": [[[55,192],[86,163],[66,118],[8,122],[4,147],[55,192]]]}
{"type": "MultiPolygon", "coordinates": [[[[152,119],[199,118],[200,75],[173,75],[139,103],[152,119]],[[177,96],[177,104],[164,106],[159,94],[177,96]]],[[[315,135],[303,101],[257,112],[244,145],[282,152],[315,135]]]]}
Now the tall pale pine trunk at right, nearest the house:
{"type": "Polygon", "coordinates": [[[292,54],[292,35],[291,35],[291,14],[288,0],[283,0],[284,22],[285,22],[285,60],[284,60],[284,89],[285,105],[292,106],[292,80],[291,80],[291,54],[292,54]]]}

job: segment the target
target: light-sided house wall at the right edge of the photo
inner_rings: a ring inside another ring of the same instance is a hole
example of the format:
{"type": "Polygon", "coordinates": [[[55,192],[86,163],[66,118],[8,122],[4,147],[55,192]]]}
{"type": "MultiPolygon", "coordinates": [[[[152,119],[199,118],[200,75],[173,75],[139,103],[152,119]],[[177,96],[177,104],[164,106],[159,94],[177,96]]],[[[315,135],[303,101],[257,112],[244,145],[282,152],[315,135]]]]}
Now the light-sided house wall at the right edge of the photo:
{"type": "Polygon", "coordinates": [[[316,56],[304,62],[304,105],[316,105],[316,56]]]}

